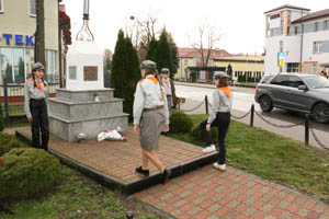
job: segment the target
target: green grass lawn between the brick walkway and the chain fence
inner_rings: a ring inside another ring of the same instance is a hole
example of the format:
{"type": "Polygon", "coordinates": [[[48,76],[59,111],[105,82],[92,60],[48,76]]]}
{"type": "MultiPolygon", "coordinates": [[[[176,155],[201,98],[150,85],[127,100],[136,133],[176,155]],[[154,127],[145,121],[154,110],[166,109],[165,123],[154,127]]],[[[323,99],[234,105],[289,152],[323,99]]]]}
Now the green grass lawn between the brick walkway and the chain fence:
{"type": "MultiPolygon", "coordinates": [[[[193,123],[201,123],[206,116],[192,115],[192,118],[193,123]]],[[[205,145],[188,134],[170,137],[205,145]]],[[[231,120],[226,147],[229,165],[329,203],[328,151],[236,120],[231,120]]]]}

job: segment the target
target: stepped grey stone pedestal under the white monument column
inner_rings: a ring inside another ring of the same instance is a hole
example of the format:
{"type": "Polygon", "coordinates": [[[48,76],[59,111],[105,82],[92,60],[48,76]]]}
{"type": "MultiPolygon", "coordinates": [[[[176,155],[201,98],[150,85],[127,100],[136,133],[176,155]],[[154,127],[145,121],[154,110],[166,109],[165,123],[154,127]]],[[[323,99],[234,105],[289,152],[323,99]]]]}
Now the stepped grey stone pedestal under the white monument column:
{"type": "Polygon", "coordinates": [[[80,132],[94,138],[105,129],[128,128],[123,99],[113,97],[113,89],[70,91],[57,89],[49,99],[49,128],[53,135],[76,141],[80,132]],[[97,100],[97,101],[95,101],[97,100]]]}

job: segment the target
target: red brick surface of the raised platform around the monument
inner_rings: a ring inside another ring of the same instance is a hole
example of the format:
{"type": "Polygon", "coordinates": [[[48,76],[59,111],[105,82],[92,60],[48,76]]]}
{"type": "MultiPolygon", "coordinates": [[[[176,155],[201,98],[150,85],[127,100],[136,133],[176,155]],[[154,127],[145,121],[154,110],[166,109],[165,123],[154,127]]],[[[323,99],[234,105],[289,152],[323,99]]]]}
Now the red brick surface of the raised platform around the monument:
{"type": "MultiPolygon", "coordinates": [[[[14,129],[7,132],[13,134],[14,129]]],[[[21,132],[31,137],[30,127],[19,128],[21,132]]],[[[68,157],[76,162],[83,163],[101,173],[113,176],[124,183],[138,181],[140,175],[135,168],[141,164],[141,149],[139,135],[129,127],[124,134],[127,141],[98,141],[89,139],[86,142],[68,142],[50,135],[48,148],[68,157]]],[[[204,157],[201,148],[160,136],[158,157],[166,166],[174,166],[204,157]]],[[[158,169],[149,162],[150,175],[158,174],[158,169]]]]}

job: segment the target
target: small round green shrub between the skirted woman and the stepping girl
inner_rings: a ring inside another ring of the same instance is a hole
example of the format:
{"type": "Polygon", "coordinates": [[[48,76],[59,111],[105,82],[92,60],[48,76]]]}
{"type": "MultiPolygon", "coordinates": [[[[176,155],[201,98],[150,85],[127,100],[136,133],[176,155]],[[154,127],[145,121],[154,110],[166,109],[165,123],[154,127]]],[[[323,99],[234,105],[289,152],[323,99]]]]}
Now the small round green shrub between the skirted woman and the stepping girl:
{"type": "Polygon", "coordinates": [[[181,111],[173,111],[170,116],[171,132],[190,132],[193,123],[192,118],[181,111]]]}

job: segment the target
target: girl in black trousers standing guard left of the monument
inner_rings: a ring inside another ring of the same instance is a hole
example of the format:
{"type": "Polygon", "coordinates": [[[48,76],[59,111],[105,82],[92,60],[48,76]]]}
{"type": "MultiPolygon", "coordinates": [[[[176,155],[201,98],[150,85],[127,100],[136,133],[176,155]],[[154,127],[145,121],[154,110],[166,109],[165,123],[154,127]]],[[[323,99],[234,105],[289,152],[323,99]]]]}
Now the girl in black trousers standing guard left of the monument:
{"type": "Polygon", "coordinates": [[[48,97],[48,84],[43,79],[44,66],[36,62],[32,66],[32,77],[25,83],[25,112],[32,124],[32,146],[48,150],[49,123],[46,99],[48,97]],[[42,132],[42,143],[39,142],[42,132]]]}

